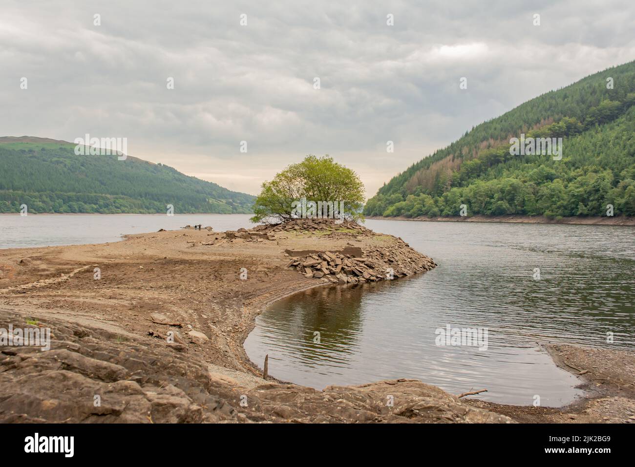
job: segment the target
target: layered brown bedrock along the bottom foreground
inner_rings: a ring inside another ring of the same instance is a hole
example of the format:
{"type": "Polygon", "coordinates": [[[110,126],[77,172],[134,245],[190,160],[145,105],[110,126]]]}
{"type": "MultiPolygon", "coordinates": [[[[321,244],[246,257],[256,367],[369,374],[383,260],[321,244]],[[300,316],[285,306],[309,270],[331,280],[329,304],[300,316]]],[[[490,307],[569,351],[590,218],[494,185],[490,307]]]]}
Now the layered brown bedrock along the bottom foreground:
{"type": "MultiPolygon", "coordinates": [[[[24,316],[0,311],[3,323],[24,316]]],[[[241,384],[197,353],[121,331],[46,318],[51,350],[4,347],[0,423],[508,423],[420,381],[241,384]],[[387,406],[391,396],[394,406],[387,406]]]]}

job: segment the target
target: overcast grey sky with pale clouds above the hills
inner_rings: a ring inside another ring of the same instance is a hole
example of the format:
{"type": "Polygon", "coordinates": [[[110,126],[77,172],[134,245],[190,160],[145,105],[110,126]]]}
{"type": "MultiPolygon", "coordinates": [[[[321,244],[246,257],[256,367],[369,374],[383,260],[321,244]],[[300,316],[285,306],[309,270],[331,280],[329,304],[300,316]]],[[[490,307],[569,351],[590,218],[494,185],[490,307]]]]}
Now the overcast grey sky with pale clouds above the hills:
{"type": "Polygon", "coordinates": [[[126,137],[251,194],[330,154],[372,196],[472,126],[634,59],[632,0],[0,0],[0,135],[126,137]]]}

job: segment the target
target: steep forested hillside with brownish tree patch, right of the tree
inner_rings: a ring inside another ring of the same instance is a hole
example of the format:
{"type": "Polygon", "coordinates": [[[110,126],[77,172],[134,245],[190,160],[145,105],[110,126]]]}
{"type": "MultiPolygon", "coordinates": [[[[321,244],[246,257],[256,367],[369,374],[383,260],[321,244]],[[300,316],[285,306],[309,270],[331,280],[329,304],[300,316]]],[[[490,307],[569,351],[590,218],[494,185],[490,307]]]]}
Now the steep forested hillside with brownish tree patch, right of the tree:
{"type": "Polygon", "coordinates": [[[481,123],[368,200],[370,216],[635,215],[635,62],[481,123]],[[613,89],[607,89],[607,78],[613,89]],[[563,137],[563,158],[512,156],[512,137],[563,137]]]}

